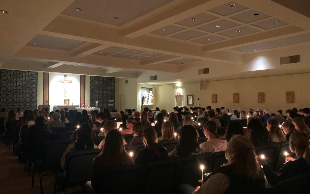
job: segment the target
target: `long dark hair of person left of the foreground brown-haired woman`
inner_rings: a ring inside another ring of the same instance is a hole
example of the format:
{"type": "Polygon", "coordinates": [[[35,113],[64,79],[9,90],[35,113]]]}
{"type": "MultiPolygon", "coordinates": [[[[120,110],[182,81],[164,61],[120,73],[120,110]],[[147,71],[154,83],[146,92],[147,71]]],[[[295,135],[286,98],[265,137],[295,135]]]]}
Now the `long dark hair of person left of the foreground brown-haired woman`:
{"type": "Polygon", "coordinates": [[[94,143],[92,139],[92,129],[88,124],[80,125],[80,128],[77,130],[78,138],[75,142],[74,149],[75,151],[79,150],[88,150],[94,148],[94,143]]]}

